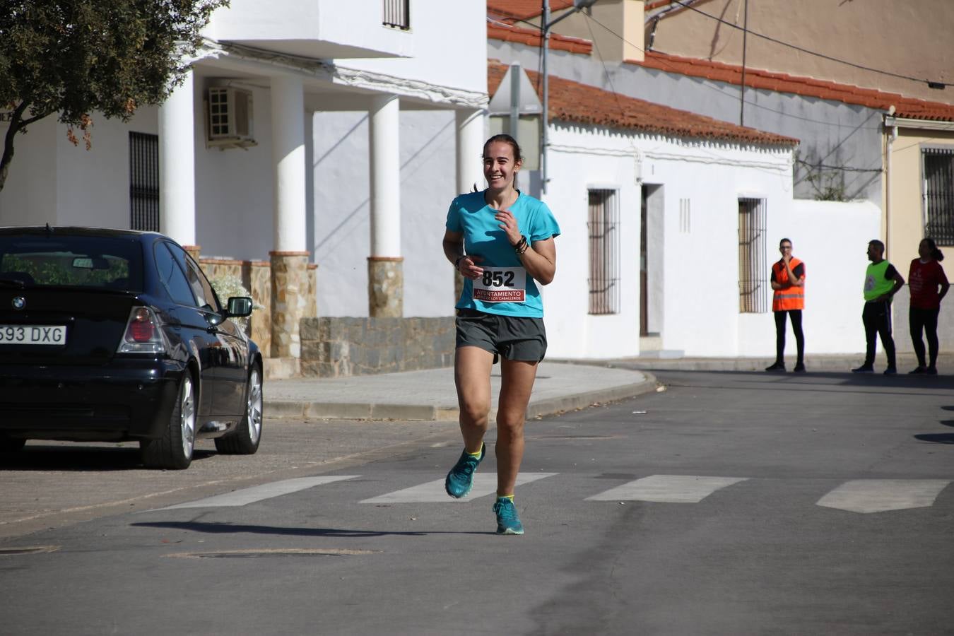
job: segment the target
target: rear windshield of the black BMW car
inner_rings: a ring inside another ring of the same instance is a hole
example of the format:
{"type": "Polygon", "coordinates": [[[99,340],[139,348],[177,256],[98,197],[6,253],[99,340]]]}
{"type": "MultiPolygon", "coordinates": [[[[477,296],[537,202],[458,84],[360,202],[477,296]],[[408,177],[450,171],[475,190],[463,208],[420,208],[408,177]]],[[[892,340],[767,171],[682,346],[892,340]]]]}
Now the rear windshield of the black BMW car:
{"type": "Polygon", "coordinates": [[[0,236],[0,280],[142,291],[142,248],[123,236],[0,236]]]}

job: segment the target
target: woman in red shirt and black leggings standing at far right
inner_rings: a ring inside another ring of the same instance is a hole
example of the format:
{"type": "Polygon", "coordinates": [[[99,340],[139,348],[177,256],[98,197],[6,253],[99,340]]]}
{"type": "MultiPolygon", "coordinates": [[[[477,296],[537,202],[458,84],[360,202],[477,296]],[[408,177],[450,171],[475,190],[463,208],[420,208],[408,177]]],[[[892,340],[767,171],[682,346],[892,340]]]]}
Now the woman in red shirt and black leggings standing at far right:
{"type": "Polygon", "coordinates": [[[907,281],[911,290],[911,308],[908,322],[911,326],[911,342],[918,356],[918,367],[910,373],[937,375],[938,362],[938,314],[941,312],[941,298],[947,293],[950,284],[944,276],[941,262],[944,254],[931,238],[923,238],[918,245],[920,258],[911,261],[907,281]],[[924,342],[921,333],[927,334],[927,353],[930,360],[925,364],[924,342]]]}

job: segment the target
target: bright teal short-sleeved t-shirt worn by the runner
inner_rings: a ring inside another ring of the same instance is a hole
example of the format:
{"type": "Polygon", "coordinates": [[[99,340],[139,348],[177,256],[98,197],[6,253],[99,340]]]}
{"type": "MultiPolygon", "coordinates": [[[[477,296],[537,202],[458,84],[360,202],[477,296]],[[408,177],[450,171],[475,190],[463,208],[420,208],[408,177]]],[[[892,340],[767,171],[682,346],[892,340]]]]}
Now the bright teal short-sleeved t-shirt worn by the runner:
{"type": "MultiPolygon", "coordinates": [[[[560,235],[556,218],[539,199],[519,193],[509,210],[530,243],[560,235]]],[[[464,234],[465,254],[483,257],[478,265],[484,268],[484,277],[477,281],[464,278],[464,291],[456,306],[487,314],[543,318],[540,290],[520,264],[520,256],[495,214],[484,201],[484,192],[460,195],[447,210],[446,228],[464,234]]]]}

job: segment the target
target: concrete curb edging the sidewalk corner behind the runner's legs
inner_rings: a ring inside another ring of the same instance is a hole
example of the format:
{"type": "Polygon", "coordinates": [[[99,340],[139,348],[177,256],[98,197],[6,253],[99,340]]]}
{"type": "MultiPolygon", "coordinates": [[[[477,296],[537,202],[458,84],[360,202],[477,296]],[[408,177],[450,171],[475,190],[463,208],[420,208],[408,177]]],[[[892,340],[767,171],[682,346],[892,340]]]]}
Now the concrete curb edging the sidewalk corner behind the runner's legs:
{"type": "MultiPolygon", "coordinates": [[[[612,386],[607,389],[572,394],[562,398],[530,400],[527,407],[527,419],[573,411],[616,400],[627,400],[653,393],[656,390],[655,377],[641,371],[644,380],[633,384],[612,386]]],[[[410,420],[410,421],[457,421],[460,410],[451,406],[430,406],[426,404],[375,404],[318,401],[265,400],[265,417],[293,420],[410,420]]],[[[496,409],[490,413],[491,420],[496,409]]]]}

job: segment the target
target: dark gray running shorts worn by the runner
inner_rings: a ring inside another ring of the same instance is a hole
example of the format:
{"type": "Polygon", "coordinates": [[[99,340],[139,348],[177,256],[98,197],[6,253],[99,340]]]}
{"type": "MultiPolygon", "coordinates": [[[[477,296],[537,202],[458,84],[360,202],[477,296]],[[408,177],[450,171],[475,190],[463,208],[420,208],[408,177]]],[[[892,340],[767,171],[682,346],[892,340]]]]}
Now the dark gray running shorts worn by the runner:
{"type": "Polygon", "coordinates": [[[480,347],[511,360],[539,362],[547,353],[547,330],[543,318],[520,318],[485,314],[473,309],[457,310],[457,346],[480,347]]]}

